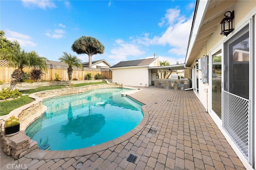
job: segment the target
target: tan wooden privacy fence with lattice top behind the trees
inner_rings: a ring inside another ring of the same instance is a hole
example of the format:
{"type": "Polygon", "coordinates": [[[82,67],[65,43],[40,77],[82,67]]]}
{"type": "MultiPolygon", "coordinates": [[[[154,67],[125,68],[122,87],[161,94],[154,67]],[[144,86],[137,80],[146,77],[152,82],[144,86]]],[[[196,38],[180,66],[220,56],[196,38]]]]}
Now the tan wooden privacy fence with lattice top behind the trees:
{"type": "MultiPolygon", "coordinates": [[[[44,75],[41,77],[41,80],[44,81],[54,81],[55,73],[60,77],[61,81],[68,81],[68,66],[64,65],[47,65],[47,71],[44,71],[44,75]]],[[[11,74],[16,68],[8,67],[8,61],[0,60],[0,81],[3,83],[10,83],[11,74]]],[[[25,67],[24,72],[29,73],[30,69],[25,67]]],[[[96,69],[83,67],[73,67],[72,79],[76,78],[78,80],[84,80],[88,73],[92,73],[92,79],[97,73],[102,75],[102,79],[112,79],[112,71],[110,69],[96,69]]]]}

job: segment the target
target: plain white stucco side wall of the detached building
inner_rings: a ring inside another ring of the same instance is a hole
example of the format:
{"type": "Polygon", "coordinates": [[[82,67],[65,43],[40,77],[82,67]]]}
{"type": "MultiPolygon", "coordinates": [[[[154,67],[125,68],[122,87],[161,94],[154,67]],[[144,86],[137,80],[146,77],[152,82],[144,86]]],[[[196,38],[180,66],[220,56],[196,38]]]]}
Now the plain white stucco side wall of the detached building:
{"type": "Polygon", "coordinates": [[[112,68],[112,82],[127,86],[148,87],[147,67],[112,68]]]}

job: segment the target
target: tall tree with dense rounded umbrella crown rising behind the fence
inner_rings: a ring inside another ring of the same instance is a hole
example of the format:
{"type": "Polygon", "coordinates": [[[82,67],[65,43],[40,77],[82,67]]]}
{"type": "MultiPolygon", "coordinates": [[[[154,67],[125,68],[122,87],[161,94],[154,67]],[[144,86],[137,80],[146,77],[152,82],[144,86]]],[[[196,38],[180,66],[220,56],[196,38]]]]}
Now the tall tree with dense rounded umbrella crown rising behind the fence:
{"type": "Polygon", "coordinates": [[[74,41],[72,50],[78,54],[87,54],[89,56],[89,68],[92,68],[92,55],[103,54],[105,47],[96,38],[82,36],[74,41]]]}

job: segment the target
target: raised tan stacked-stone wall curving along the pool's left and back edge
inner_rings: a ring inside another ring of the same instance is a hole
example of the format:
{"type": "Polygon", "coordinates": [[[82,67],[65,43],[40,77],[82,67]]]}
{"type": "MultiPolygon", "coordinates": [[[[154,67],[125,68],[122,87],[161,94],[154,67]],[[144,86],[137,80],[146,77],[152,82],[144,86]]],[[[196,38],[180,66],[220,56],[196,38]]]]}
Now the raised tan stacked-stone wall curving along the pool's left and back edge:
{"type": "Polygon", "coordinates": [[[8,115],[1,116],[0,119],[6,120],[10,116],[19,117],[20,119],[20,132],[14,136],[4,135],[4,123],[0,122],[0,132],[1,132],[1,147],[3,147],[4,152],[8,155],[12,155],[15,159],[21,158],[25,154],[31,152],[32,150],[38,148],[36,141],[31,140],[25,134],[26,128],[31,125],[34,121],[40,118],[46,111],[46,106],[42,105],[44,99],[49,99],[53,97],[84,93],[93,89],[108,88],[108,87],[123,87],[120,84],[98,84],[98,85],[88,85],[84,87],[70,87],[65,89],[55,89],[42,91],[38,93],[33,93],[30,97],[34,98],[35,101],[24,105],[18,109],[14,109],[8,115]]]}

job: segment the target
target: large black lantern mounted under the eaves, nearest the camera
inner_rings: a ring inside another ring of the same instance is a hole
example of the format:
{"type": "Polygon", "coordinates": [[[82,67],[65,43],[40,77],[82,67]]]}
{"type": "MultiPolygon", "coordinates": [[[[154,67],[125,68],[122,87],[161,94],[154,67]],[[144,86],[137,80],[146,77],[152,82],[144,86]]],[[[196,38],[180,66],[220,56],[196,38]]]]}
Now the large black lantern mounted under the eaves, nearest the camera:
{"type": "Polygon", "coordinates": [[[220,22],[221,24],[221,33],[220,35],[222,36],[228,36],[234,28],[233,28],[233,19],[235,18],[234,16],[234,11],[227,11],[224,14],[225,18],[220,22]]]}

